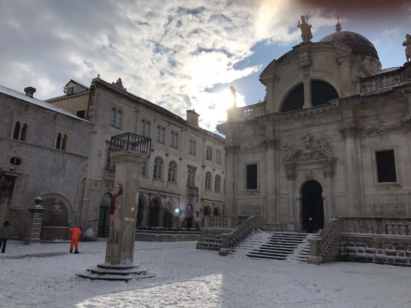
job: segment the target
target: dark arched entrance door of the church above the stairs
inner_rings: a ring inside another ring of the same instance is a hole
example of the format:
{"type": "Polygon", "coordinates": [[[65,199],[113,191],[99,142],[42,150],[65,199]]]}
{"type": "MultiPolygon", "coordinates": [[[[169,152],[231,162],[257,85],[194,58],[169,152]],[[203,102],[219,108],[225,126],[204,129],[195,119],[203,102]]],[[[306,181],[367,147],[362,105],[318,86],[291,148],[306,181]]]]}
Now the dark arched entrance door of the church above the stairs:
{"type": "Polygon", "coordinates": [[[306,182],[302,189],[302,223],[308,233],[324,228],[323,187],[317,181],[306,182]]]}

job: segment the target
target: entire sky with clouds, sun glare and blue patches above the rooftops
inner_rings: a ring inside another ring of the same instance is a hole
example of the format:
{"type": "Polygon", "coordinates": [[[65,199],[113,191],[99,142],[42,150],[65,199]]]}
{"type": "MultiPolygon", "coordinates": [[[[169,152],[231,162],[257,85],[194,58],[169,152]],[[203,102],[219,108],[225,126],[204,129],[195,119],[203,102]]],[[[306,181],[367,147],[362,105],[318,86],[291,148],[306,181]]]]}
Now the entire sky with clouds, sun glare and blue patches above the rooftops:
{"type": "Polygon", "coordinates": [[[232,104],[263,100],[258,81],[274,59],[299,44],[300,15],[317,42],[335,32],[364,35],[383,68],[405,62],[407,0],[0,0],[0,85],[37,89],[45,100],[74,79],[121,78],[133,94],[215,131],[232,104]]]}

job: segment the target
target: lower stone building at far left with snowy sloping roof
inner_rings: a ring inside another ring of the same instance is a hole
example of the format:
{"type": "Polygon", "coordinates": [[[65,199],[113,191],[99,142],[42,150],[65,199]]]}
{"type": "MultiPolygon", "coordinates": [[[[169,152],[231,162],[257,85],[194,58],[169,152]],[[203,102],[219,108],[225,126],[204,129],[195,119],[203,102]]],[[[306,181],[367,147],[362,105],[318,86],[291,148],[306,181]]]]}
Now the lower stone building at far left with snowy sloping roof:
{"type": "Polygon", "coordinates": [[[25,238],[27,208],[40,196],[47,209],[41,238],[62,239],[83,218],[78,187],[87,174],[92,125],[33,98],[35,91],[0,86],[0,221],[10,221],[13,238],[25,238]]]}

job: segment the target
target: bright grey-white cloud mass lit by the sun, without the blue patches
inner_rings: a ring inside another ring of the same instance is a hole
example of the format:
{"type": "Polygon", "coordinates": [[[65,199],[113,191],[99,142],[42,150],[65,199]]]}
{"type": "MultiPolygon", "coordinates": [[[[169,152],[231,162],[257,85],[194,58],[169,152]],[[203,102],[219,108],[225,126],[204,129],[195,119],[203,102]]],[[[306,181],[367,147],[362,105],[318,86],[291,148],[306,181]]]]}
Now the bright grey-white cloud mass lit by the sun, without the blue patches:
{"type": "Polygon", "coordinates": [[[0,84],[20,91],[31,85],[36,97],[46,99],[61,95],[71,78],[89,84],[97,74],[108,82],[120,77],[130,92],[182,117],[195,108],[200,126],[210,130],[225,114],[211,113],[218,108],[208,107],[219,106],[221,96],[205,89],[257,72],[260,66],[234,67],[252,54],[253,45],[298,42],[303,12],[313,32],[335,23],[316,7],[303,11],[298,1],[31,4],[1,5],[0,41],[8,43],[0,49],[0,84]]]}

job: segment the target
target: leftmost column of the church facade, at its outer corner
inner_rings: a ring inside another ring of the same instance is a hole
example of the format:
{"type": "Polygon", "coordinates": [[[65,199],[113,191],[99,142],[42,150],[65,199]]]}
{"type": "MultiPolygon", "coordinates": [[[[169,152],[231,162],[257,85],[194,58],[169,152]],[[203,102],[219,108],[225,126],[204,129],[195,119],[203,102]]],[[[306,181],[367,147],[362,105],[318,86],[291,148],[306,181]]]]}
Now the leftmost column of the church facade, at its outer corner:
{"type": "MultiPolygon", "coordinates": [[[[238,146],[228,146],[225,148],[225,162],[226,162],[226,179],[235,179],[235,156],[238,146]]],[[[236,181],[228,180],[226,182],[226,211],[225,215],[238,216],[237,203],[235,196],[236,181]]]]}

